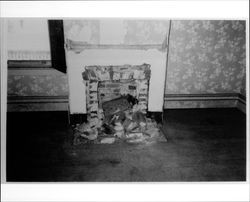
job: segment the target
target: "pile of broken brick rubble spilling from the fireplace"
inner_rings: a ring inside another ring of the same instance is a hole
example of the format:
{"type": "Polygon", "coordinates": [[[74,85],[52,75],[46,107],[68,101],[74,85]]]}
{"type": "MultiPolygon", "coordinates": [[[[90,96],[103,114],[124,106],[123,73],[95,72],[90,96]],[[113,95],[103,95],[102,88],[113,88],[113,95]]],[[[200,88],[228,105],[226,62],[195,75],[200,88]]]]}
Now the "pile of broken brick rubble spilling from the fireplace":
{"type": "Polygon", "coordinates": [[[146,117],[136,99],[130,95],[102,104],[104,117],[98,124],[82,123],[74,128],[74,144],[115,142],[166,142],[155,120],[146,117]]]}

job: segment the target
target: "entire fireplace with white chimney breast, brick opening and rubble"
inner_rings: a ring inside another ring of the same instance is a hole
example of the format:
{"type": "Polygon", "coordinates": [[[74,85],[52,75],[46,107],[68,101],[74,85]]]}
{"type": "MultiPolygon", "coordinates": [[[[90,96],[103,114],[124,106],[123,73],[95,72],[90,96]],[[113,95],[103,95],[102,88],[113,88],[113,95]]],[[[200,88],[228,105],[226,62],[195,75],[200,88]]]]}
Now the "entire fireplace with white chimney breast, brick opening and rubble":
{"type": "Polygon", "coordinates": [[[72,125],[80,123],[76,137],[159,136],[148,115],[163,112],[168,21],[139,21],[139,30],[126,19],[64,21],[69,112],[79,117],[72,125]]]}

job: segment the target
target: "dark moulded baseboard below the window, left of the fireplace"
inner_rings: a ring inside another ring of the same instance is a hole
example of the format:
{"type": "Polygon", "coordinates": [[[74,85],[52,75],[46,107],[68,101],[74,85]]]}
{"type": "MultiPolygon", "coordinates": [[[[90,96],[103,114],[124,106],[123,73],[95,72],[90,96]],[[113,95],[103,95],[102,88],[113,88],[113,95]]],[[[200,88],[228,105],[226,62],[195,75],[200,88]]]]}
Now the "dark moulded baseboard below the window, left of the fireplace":
{"type": "Polygon", "coordinates": [[[68,96],[8,96],[8,112],[68,111],[68,96]]]}

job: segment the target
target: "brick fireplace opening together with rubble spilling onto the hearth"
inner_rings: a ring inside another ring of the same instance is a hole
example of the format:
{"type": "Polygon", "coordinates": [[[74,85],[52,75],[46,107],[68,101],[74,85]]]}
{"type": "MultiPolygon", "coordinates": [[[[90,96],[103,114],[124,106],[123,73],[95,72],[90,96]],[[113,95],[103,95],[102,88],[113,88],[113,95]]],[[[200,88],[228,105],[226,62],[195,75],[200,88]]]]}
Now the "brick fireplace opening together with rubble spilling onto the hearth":
{"type": "Polygon", "coordinates": [[[87,66],[87,122],[76,126],[74,144],[166,141],[147,116],[150,65],[87,66]]]}

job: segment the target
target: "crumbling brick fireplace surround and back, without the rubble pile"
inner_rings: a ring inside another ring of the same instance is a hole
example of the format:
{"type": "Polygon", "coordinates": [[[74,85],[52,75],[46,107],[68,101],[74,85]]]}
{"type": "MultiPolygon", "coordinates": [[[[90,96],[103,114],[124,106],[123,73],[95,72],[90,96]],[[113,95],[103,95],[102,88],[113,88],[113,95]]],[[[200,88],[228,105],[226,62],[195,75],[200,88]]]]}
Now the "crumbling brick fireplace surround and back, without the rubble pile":
{"type": "Polygon", "coordinates": [[[136,99],[140,111],[146,114],[150,80],[149,64],[86,66],[82,76],[86,86],[87,119],[91,126],[101,126],[104,115],[124,110],[126,103],[122,101],[126,102],[125,96],[136,99]]]}

